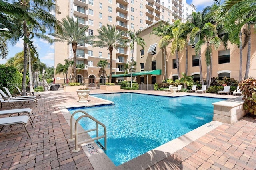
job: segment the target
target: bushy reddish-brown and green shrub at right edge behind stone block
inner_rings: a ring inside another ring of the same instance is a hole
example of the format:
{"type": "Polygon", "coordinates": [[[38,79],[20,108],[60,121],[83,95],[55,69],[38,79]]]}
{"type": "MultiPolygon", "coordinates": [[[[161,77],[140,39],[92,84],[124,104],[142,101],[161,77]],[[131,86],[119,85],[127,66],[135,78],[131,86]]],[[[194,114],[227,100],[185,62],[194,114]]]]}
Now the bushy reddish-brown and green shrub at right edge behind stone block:
{"type": "Polygon", "coordinates": [[[244,110],[247,114],[256,115],[256,79],[246,79],[240,83],[244,94],[244,110]]]}

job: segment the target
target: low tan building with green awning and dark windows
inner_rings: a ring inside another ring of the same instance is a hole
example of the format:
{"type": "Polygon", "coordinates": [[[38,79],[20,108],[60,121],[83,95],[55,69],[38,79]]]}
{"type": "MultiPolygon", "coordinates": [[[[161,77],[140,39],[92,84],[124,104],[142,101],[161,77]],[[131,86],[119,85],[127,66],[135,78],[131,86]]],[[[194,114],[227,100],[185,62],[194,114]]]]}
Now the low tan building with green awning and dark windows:
{"type": "MultiPolygon", "coordinates": [[[[133,76],[136,77],[138,83],[160,83],[165,80],[164,73],[164,53],[159,48],[160,37],[155,35],[150,35],[153,27],[157,27],[160,21],[155,22],[152,25],[142,29],[141,37],[146,41],[147,47],[137,50],[137,74],[134,73],[133,76]],[[150,36],[149,36],[150,35],[150,36]]],[[[254,77],[256,75],[256,34],[254,29],[251,29],[251,60],[250,60],[250,71],[249,77],[254,77]]],[[[202,46],[202,74],[203,78],[206,79],[206,62],[205,62],[205,49],[206,45],[202,46]]],[[[242,50],[242,78],[244,78],[246,70],[246,60],[247,60],[247,46],[242,50]]],[[[180,77],[181,73],[185,72],[185,50],[178,53],[179,56],[179,66],[180,66],[180,77]]],[[[223,45],[219,47],[218,50],[213,49],[212,53],[212,77],[230,77],[236,80],[239,79],[239,59],[240,53],[239,48],[236,45],[228,43],[227,50],[223,45]]],[[[170,45],[167,47],[167,78],[168,79],[178,79],[177,67],[176,67],[176,55],[170,53],[170,45]]],[[[200,70],[199,70],[199,59],[195,54],[194,46],[188,46],[188,75],[194,76],[194,80],[200,81],[200,70]]],[[[114,77],[122,76],[115,75],[114,77]]],[[[127,76],[127,75],[126,75],[127,76]]],[[[130,76],[130,75],[128,75],[130,76]]]]}

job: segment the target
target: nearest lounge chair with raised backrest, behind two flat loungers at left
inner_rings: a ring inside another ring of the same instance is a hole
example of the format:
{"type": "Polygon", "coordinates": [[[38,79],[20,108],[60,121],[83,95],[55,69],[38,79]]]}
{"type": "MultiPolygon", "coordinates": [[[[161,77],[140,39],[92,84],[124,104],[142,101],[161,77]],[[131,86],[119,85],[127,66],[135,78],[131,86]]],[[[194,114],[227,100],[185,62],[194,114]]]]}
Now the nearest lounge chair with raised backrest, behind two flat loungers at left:
{"type": "MultiPolygon", "coordinates": [[[[14,107],[22,107],[26,102],[34,102],[36,107],[38,105],[38,103],[35,99],[24,99],[24,98],[10,99],[2,90],[0,90],[0,102],[1,102],[1,108],[2,108],[2,104],[4,104],[4,103],[8,103],[11,107],[12,107],[12,105],[14,107]],[[4,100],[4,98],[5,98],[5,100],[4,100]]],[[[12,107],[12,109],[13,109],[13,107],[12,107]]]]}

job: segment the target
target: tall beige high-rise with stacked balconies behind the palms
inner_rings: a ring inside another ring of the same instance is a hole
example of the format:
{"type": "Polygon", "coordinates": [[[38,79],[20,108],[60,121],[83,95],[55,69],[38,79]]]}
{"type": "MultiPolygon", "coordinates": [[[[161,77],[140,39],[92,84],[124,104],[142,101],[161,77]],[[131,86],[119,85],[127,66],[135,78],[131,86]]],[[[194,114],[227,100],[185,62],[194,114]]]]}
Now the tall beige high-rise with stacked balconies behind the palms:
{"type": "MultiPolygon", "coordinates": [[[[97,29],[103,25],[116,25],[117,30],[137,31],[151,25],[159,20],[166,20],[173,23],[175,20],[185,22],[187,14],[191,14],[196,8],[186,4],[185,0],[66,0],[57,1],[60,7],[56,18],[62,20],[66,16],[78,20],[80,27],[89,26],[86,35],[98,35],[97,29]],[[190,7],[190,12],[186,10],[190,7]],[[192,9],[192,10],[191,10],[192,9]]],[[[128,39],[127,34],[123,34],[128,39]]],[[[136,61],[138,49],[134,48],[134,60],[136,61]]],[[[72,46],[67,43],[55,43],[55,67],[58,63],[64,64],[64,59],[72,59],[72,46]]],[[[77,73],[80,83],[94,86],[107,79],[100,72],[97,66],[98,61],[109,62],[109,51],[106,48],[93,48],[88,44],[78,44],[77,64],[85,64],[85,68],[77,73]]],[[[112,74],[123,74],[124,65],[132,61],[132,52],[129,47],[118,47],[112,53],[112,74]]],[[[110,72],[110,64],[105,68],[107,75],[110,72]]],[[[137,66],[138,67],[138,66],[137,66]]],[[[72,79],[72,70],[69,71],[69,78],[72,79]]],[[[116,77],[112,82],[125,80],[124,77],[116,77]]],[[[63,82],[63,76],[55,76],[56,83],[63,82]]]]}

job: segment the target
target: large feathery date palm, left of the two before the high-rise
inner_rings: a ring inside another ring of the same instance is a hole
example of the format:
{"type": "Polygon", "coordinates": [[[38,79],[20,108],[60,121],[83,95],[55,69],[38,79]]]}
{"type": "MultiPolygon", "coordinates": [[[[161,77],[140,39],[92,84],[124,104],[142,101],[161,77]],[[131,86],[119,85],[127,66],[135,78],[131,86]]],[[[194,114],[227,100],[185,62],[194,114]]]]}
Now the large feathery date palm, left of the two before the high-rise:
{"type": "Polygon", "coordinates": [[[80,28],[78,25],[78,20],[75,21],[74,18],[67,16],[62,19],[61,27],[62,30],[57,30],[55,33],[49,33],[55,37],[54,42],[67,42],[72,44],[73,50],[73,82],[77,82],[76,78],[76,50],[78,43],[92,44],[93,36],[85,35],[84,32],[88,29],[88,26],[80,28]]]}

